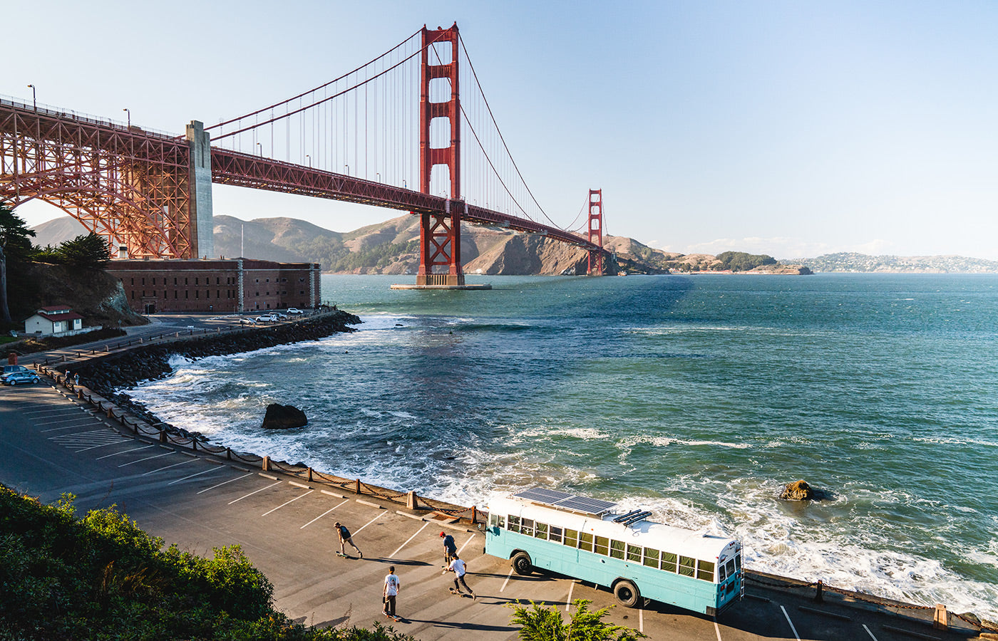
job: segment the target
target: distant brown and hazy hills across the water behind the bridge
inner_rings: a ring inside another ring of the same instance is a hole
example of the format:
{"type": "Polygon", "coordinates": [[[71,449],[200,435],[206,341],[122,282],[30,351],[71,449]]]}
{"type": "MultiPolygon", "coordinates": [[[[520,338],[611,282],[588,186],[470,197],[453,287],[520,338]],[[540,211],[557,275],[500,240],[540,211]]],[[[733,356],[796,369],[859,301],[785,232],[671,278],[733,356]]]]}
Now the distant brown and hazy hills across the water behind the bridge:
{"type": "MultiPolygon", "coordinates": [[[[38,245],[57,245],[81,233],[71,216],[33,227],[38,245]]],[[[353,231],[338,232],[290,217],[242,220],[215,216],[215,247],[221,256],[248,256],[284,262],[317,262],[336,273],[415,273],[419,266],[419,219],[404,214],[353,231]]],[[[726,266],[718,256],[682,254],[649,247],[634,238],[606,236],[604,247],[616,261],[611,273],[715,272],[726,266]]],[[[468,274],[581,274],[586,252],[537,234],[464,224],[461,253],[468,274]]],[[[729,253],[729,252],[726,252],[729,253]]],[[[723,256],[724,254],[719,254],[723,256]]],[[[867,256],[834,253],[781,260],[747,273],[915,272],[994,273],[998,262],[964,256],[867,256]]]]}

